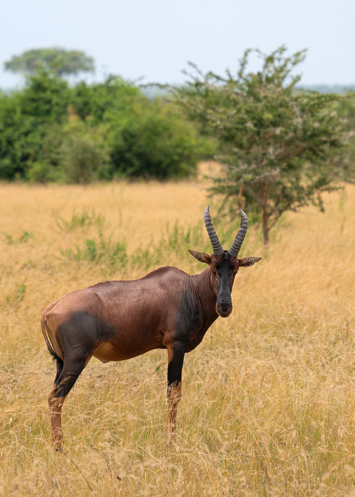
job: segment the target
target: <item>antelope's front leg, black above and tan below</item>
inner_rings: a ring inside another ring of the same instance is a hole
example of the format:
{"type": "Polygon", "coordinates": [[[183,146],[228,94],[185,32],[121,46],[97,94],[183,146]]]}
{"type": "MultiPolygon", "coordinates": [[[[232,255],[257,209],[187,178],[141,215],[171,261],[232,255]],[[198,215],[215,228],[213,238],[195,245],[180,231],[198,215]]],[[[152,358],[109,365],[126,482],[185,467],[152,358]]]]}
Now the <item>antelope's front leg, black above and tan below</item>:
{"type": "Polygon", "coordinates": [[[176,414],[181,398],[182,364],[184,363],[186,344],[173,342],[168,346],[168,423],[166,437],[175,438],[176,414]]]}

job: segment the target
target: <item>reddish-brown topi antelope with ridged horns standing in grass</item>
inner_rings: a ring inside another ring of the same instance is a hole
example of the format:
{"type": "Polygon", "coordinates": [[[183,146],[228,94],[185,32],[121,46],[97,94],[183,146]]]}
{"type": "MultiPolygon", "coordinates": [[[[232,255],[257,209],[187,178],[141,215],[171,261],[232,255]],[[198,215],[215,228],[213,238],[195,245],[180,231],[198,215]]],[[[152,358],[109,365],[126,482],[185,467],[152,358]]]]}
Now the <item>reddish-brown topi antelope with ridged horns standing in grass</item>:
{"type": "Polygon", "coordinates": [[[197,261],[207,264],[202,273],[188,275],[165,266],[140,280],[106,281],[70,292],[43,312],[43,336],[57,363],[48,395],[56,449],[62,444],[62,405],[89,359],[124,361],[153,349],[168,350],[167,434],[173,437],[185,353],[200,344],[218,316],[231,314],[231,288],[239,268],[261,260],[238,258],[248,228],[242,210],[241,228],[229,251],[214,231],[209,206],[204,224],[213,254],[189,250],[197,261]]]}

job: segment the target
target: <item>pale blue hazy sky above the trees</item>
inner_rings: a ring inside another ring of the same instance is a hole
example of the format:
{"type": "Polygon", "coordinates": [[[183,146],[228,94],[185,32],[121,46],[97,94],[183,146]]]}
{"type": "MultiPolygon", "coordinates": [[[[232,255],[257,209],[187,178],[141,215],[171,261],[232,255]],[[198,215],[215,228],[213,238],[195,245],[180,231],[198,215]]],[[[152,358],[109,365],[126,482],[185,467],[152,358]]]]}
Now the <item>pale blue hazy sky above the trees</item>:
{"type": "Polygon", "coordinates": [[[95,80],[179,83],[187,60],[222,74],[246,48],[283,44],[289,54],[308,49],[303,84],[354,84],[355,1],[1,0],[0,87],[19,84],[4,62],[31,48],[84,50],[95,80]]]}

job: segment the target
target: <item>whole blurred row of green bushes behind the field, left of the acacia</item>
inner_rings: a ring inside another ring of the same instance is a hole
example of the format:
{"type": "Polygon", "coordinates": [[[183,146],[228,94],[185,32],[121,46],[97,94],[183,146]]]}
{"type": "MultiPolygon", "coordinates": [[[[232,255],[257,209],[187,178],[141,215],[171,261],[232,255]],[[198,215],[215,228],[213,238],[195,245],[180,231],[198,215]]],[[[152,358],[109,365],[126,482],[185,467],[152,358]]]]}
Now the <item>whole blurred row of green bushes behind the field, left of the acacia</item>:
{"type": "Polygon", "coordinates": [[[174,102],[120,77],[70,87],[40,68],[22,89],[0,92],[1,180],[182,178],[212,153],[174,102]]]}

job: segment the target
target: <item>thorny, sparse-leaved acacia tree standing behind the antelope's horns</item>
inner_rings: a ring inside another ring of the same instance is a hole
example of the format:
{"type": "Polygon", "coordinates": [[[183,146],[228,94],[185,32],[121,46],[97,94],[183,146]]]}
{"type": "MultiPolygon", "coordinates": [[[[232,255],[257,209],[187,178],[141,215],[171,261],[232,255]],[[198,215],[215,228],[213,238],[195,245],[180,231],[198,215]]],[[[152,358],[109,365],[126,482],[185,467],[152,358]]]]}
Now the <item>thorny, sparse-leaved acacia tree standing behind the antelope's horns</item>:
{"type": "Polygon", "coordinates": [[[261,71],[246,73],[251,50],[239,71],[226,77],[198,68],[192,82],[177,89],[178,102],[204,131],[219,141],[216,158],[224,165],[213,194],[223,206],[248,209],[260,219],[264,244],[283,212],[307,204],[323,209],[321,193],[334,190],[332,148],[342,146],[342,119],[334,110],[340,97],[296,87],[294,67],[305,50],[285,57],[281,46],[263,59],[261,71]]]}

